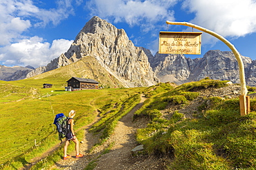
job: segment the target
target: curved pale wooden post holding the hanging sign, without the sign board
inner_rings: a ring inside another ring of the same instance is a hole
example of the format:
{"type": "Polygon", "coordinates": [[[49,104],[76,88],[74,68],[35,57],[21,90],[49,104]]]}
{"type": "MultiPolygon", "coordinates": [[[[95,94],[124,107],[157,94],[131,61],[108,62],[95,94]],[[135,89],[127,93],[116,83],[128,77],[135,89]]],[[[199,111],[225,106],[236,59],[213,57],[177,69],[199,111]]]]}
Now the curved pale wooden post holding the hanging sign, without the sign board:
{"type": "Polygon", "coordinates": [[[237,59],[237,62],[239,65],[239,78],[240,78],[240,83],[241,83],[241,95],[239,96],[239,101],[240,101],[241,116],[248,114],[248,111],[250,110],[249,109],[250,104],[249,104],[249,102],[246,102],[246,95],[248,93],[248,90],[246,88],[246,78],[245,78],[245,74],[244,74],[244,63],[241,59],[241,55],[239,54],[239,52],[237,51],[235,46],[232,45],[232,43],[230,43],[223,36],[217,34],[216,32],[213,32],[211,30],[207,30],[206,28],[202,28],[199,25],[194,25],[194,24],[188,23],[188,22],[172,22],[172,21],[166,21],[166,23],[170,24],[170,25],[185,25],[188,27],[195,28],[197,30],[201,30],[203,32],[211,34],[212,36],[216,37],[217,39],[219,39],[220,41],[222,41],[223,43],[228,45],[228,47],[230,47],[230,50],[232,50],[232,52],[235,54],[235,58],[237,59]]]}

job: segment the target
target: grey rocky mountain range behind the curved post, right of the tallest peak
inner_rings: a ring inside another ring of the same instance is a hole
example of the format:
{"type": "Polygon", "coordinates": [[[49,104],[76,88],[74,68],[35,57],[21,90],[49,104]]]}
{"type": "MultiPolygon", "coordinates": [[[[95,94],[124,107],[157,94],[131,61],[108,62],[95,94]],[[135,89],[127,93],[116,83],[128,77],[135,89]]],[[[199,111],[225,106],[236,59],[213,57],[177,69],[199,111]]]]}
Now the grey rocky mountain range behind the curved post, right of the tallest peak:
{"type": "MultiPolygon", "coordinates": [[[[244,62],[246,84],[256,85],[256,61],[241,56],[244,62]]],[[[161,82],[174,82],[178,85],[190,81],[199,81],[209,77],[213,80],[228,80],[240,83],[237,59],[232,52],[210,50],[203,58],[190,59],[182,54],[156,54],[149,56],[156,76],[161,82]]]]}

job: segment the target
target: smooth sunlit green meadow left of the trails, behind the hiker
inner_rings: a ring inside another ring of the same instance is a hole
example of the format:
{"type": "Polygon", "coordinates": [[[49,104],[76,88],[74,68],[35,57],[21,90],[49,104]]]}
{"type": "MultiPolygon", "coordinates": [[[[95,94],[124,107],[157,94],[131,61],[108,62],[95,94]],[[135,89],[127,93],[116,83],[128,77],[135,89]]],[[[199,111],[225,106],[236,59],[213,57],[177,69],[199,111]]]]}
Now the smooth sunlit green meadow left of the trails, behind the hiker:
{"type": "MultiPolygon", "coordinates": [[[[55,114],[68,115],[74,109],[77,112],[75,129],[79,129],[91,123],[100,107],[127,100],[140,92],[140,88],[65,92],[61,87],[39,87],[31,91],[30,85],[23,87],[23,83],[24,81],[15,81],[9,82],[8,86],[5,83],[0,85],[6,90],[0,98],[0,129],[3,136],[8,136],[0,138],[0,163],[7,162],[6,167],[22,167],[31,158],[40,156],[60,142],[53,125],[55,114]],[[37,147],[35,140],[39,145],[37,147]]],[[[60,155],[62,153],[54,158],[60,159],[60,155]]]]}

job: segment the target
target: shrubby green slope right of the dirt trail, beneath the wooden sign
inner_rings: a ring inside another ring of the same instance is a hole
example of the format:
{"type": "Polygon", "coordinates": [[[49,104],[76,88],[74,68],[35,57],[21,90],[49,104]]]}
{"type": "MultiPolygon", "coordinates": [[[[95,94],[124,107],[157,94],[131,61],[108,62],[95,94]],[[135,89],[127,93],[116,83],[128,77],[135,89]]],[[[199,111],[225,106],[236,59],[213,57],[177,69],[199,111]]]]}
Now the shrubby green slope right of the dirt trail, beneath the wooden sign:
{"type": "Polygon", "coordinates": [[[175,89],[167,84],[151,87],[157,93],[147,89],[150,98],[135,117],[147,116],[150,122],[138,130],[138,142],[147,153],[169,156],[168,169],[256,169],[255,99],[250,100],[248,116],[240,116],[238,98],[218,97],[204,98],[192,119],[183,118],[179,111],[171,118],[161,114],[170,103],[180,108],[188,105],[200,93],[195,89],[224,85],[225,81],[206,79],[175,89]]]}

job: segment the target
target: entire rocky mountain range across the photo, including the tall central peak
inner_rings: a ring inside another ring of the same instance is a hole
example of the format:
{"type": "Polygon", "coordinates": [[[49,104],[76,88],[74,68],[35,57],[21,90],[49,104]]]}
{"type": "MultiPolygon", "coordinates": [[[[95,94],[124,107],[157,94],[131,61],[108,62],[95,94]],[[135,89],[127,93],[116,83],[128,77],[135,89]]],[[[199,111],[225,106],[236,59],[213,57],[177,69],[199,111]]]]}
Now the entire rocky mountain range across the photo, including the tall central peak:
{"type": "MultiPolygon", "coordinates": [[[[256,61],[246,56],[241,57],[244,61],[246,85],[256,86],[256,61]]],[[[88,21],[68,51],[48,65],[35,70],[30,66],[19,69],[14,67],[12,70],[1,66],[0,78],[3,81],[20,80],[71,64],[73,67],[68,68],[73,75],[68,74],[69,76],[84,73],[80,77],[105,82],[99,78],[104,74],[110,78],[106,81],[106,85],[110,87],[147,87],[160,81],[180,85],[205,77],[239,83],[239,67],[232,52],[210,50],[203,58],[197,59],[186,58],[182,54],[156,53],[154,56],[144,47],[134,46],[125,30],[118,29],[99,17],[88,21]],[[84,59],[93,60],[94,64],[88,64],[90,67],[75,64],[80,60],[86,63],[84,59]],[[100,73],[100,70],[107,73],[100,73]],[[111,79],[112,83],[109,82],[111,79]]]]}

